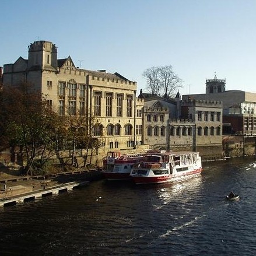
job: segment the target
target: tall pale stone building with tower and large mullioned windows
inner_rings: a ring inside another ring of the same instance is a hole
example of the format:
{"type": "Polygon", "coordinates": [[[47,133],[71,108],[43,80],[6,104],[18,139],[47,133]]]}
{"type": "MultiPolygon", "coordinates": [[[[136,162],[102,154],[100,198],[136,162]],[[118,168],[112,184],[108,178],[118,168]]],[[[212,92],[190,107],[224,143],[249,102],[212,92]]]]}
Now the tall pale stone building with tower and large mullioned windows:
{"type": "Polygon", "coordinates": [[[47,95],[48,104],[60,115],[79,111],[95,118],[93,135],[101,142],[102,154],[142,144],[143,99],[136,99],[136,82],[119,73],[78,68],[70,56],[57,58],[55,44],[35,41],[27,59],[19,57],[3,66],[4,86],[22,81],[47,95]]]}

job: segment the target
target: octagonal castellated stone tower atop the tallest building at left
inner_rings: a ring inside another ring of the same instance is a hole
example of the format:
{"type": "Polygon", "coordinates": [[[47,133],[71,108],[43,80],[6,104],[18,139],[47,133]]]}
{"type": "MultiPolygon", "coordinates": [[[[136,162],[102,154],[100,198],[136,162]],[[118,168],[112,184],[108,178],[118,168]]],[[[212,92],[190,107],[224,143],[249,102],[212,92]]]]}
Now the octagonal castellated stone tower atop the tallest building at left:
{"type": "Polygon", "coordinates": [[[50,41],[35,41],[29,45],[27,68],[57,70],[57,47],[50,41]]]}

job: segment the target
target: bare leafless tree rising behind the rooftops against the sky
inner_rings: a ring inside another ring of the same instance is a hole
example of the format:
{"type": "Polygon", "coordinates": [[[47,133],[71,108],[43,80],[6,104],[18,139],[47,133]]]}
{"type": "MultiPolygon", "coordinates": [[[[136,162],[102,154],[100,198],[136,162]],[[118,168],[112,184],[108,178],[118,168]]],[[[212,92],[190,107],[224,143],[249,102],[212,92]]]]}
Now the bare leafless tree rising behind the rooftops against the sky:
{"type": "Polygon", "coordinates": [[[183,87],[182,80],[173,71],[173,66],[153,66],[146,69],[142,76],[147,79],[147,90],[160,97],[170,99],[183,87]]]}

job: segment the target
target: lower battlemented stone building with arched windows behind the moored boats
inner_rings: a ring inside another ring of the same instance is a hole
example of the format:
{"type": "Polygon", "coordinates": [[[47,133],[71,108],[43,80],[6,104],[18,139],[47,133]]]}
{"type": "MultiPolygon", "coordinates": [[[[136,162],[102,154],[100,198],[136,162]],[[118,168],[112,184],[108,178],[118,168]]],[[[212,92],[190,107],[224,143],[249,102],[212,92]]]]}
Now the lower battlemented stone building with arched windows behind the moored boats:
{"type": "Polygon", "coordinates": [[[222,103],[173,100],[142,94],[143,143],[154,149],[197,150],[203,160],[222,159],[222,103]]]}

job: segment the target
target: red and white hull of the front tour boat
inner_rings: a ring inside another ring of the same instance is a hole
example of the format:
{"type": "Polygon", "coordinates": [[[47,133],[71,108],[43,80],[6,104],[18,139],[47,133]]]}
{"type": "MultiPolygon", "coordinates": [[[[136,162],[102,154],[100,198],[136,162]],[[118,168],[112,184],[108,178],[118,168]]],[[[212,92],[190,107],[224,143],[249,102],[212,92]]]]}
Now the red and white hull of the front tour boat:
{"type": "Polygon", "coordinates": [[[181,180],[187,180],[188,178],[192,178],[200,175],[202,172],[202,168],[188,171],[185,173],[178,174],[166,174],[160,176],[132,176],[132,180],[135,184],[156,184],[156,183],[166,183],[166,182],[177,182],[181,180]]]}

